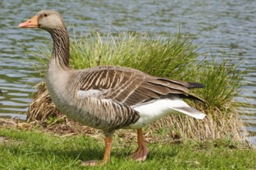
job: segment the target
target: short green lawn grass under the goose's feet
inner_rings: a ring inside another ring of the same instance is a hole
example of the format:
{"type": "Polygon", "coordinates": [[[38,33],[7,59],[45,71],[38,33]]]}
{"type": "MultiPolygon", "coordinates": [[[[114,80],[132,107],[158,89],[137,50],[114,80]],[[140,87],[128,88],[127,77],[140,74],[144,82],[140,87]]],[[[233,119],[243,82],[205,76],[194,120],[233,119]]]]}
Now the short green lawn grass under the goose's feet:
{"type": "MultiPolygon", "coordinates": [[[[157,134],[156,134],[157,135],[157,134]]],[[[228,139],[185,141],[182,145],[151,143],[146,162],[126,159],[136,142],[115,140],[111,162],[92,169],[253,169],[256,152],[228,139]]],[[[42,131],[0,128],[0,169],[83,169],[81,161],[101,159],[103,140],[79,134],[60,137],[42,131]]]]}

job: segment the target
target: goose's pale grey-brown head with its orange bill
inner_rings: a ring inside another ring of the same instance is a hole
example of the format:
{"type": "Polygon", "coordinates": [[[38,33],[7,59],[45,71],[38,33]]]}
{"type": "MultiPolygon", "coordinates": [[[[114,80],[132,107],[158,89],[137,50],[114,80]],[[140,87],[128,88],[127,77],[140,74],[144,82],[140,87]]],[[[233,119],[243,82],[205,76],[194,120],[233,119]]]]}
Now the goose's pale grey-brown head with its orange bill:
{"type": "Polygon", "coordinates": [[[65,27],[64,21],[58,12],[42,10],[31,19],[19,24],[19,28],[40,28],[47,32],[53,32],[54,29],[65,27]]]}

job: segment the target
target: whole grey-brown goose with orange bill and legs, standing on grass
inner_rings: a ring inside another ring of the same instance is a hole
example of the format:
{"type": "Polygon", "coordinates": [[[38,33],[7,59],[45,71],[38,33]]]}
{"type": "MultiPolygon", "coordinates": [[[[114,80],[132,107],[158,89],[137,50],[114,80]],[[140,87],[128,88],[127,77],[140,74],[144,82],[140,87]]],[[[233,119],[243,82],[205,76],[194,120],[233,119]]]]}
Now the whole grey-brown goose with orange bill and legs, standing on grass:
{"type": "MultiPolygon", "coordinates": [[[[40,28],[50,33],[53,52],[47,70],[47,89],[56,107],[75,121],[102,129],[105,152],[102,163],[109,162],[112,135],[120,128],[137,129],[138,148],[131,158],[147,158],[147,141],[142,128],[168,114],[186,114],[203,119],[205,114],[190,107],[182,98],[200,100],[189,94],[201,83],[150,76],[122,66],[97,66],[74,70],[69,66],[67,28],[58,12],[43,10],[20,28],[40,28]]],[[[97,165],[88,161],[85,165],[97,165]]]]}

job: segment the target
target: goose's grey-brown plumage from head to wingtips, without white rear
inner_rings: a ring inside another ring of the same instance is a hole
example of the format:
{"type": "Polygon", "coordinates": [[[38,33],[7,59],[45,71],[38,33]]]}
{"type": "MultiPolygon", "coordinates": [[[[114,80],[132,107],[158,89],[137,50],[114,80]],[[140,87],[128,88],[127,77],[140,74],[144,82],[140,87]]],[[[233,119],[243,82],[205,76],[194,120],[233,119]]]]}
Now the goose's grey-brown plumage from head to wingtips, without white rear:
{"type": "MultiPolygon", "coordinates": [[[[173,94],[200,100],[189,94],[189,88],[203,87],[200,83],[150,76],[122,66],[73,70],[69,66],[69,38],[61,15],[41,11],[38,23],[54,41],[47,71],[47,88],[54,104],[68,117],[102,129],[106,136],[139,120],[140,113],[134,106],[173,94]]],[[[188,110],[179,108],[184,109],[188,110]]]]}

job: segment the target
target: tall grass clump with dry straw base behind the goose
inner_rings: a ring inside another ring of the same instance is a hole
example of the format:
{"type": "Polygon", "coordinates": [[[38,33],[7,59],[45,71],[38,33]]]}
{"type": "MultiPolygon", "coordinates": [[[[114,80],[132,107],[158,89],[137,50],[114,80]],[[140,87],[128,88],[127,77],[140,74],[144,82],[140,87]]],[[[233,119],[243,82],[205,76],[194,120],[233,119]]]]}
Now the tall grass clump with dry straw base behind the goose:
{"type": "MultiPolygon", "coordinates": [[[[234,97],[240,95],[245,72],[237,71],[239,64],[223,57],[216,62],[215,57],[203,57],[198,46],[181,33],[169,37],[151,37],[133,32],[115,35],[90,32],[88,36],[74,36],[71,40],[71,66],[75,69],[99,65],[132,67],[154,76],[199,82],[203,89],[191,90],[206,104],[190,102],[198,110],[207,114],[204,121],[191,117],[164,117],[147,128],[152,131],[168,129],[172,138],[223,138],[240,139],[239,108],[242,104],[234,97]],[[79,38],[78,38],[79,37],[79,38]],[[174,135],[175,134],[175,135],[174,135]]],[[[51,44],[34,53],[39,61],[36,66],[45,75],[51,44]]],[[[41,83],[38,93],[29,106],[28,121],[45,121],[47,117],[60,114],[51,102],[45,83],[41,83]]]]}

